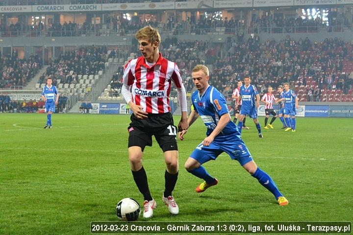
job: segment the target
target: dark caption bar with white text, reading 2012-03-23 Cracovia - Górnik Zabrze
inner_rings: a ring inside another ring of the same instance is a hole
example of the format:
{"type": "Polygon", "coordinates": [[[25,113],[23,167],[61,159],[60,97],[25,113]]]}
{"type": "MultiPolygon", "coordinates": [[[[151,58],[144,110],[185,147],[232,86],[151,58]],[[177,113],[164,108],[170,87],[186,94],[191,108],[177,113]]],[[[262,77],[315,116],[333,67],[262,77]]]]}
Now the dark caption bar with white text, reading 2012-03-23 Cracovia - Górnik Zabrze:
{"type": "Polygon", "coordinates": [[[351,234],[352,222],[91,222],[92,234],[351,234]]]}

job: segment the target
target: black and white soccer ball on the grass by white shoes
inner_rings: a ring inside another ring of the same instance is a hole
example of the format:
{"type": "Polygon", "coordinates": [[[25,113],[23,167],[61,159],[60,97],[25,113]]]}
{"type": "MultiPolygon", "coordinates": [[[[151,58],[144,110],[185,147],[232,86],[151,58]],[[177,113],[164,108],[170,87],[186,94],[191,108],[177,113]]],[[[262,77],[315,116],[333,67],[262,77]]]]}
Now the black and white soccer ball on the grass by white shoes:
{"type": "Polygon", "coordinates": [[[124,198],[116,206],[117,216],[122,221],[135,221],[141,214],[141,207],[132,198],[124,198]]]}

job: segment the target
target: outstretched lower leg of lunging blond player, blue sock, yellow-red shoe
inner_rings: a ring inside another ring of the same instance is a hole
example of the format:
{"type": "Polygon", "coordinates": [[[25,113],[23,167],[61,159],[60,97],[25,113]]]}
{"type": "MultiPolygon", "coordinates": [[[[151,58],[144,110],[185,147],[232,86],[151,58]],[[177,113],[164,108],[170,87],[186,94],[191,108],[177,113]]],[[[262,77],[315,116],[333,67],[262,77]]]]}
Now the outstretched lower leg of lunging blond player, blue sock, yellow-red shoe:
{"type": "MultiPolygon", "coordinates": [[[[239,162],[240,164],[242,164],[242,160],[240,160],[239,162]]],[[[257,167],[253,160],[242,166],[252,175],[252,177],[256,178],[263,187],[269,190],[276,197],[277,202],[280,206],[285,206],[288,204],[288,200],[283,197],[282,193],[278,190],[271,176],[269,176],[265,171],[257,167]]]]}

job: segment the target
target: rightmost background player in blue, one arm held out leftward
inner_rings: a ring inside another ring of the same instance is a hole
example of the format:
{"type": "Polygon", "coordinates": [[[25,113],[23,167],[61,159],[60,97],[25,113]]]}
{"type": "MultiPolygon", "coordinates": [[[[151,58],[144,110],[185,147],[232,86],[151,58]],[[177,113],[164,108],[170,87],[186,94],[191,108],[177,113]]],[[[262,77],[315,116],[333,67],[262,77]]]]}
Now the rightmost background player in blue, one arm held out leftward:
{"type": "Polygon", "coordinates": [[[289,89],[289,84],[284,83],[284,92],[283,92],[283,98],[280,98],[277,100],[277,102],[280,102],[284,100],[284,120],[286,122],[286,125],[288,126],[284,131],[290,131],[295,132],[296,128],[296,119],[295,116],[297,114],[297,109],[298,109],[298,97],[297,95],[289,89]],[[292,123],[290,122],[289,117],[292,116],[292,123]]]}

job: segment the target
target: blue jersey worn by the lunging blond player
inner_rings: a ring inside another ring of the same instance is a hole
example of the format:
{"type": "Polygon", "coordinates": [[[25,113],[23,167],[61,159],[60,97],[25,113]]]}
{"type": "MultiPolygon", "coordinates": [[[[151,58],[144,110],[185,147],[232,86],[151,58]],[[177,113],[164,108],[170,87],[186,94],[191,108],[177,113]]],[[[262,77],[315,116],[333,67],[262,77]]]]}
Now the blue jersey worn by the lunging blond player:
{"type": "MultiPolygon", "coordinates": [[[[222,115],[230,116],[225,97],[212,86],[208,86],[202,95],[199,94],[199,91],[195,91],[191,96],[191,100],[194,110],[198,112],[207,127],[207,136],[216,128],[222,115]]],[[[228,122],[216,138],[230,135],[236,135],[240,139],[238,127],[232,121],[228,122]]]]}

